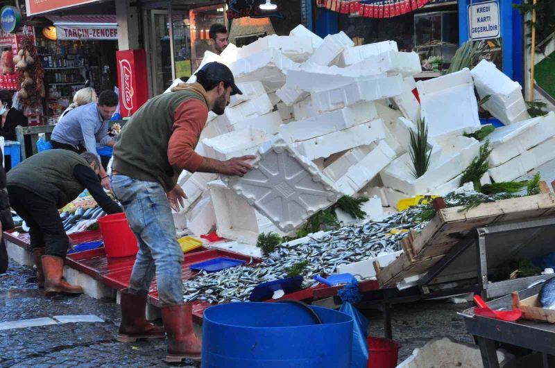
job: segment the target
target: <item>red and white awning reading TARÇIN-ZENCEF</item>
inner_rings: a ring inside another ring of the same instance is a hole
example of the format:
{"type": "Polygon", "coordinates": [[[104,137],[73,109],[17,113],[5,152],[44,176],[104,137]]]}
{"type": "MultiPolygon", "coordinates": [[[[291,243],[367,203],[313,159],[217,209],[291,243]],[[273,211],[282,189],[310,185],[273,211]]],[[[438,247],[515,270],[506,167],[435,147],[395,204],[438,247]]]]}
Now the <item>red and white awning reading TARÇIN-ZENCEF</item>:
{"type": "Polygon", "coordinates": [[[47,16],[58,40],[117,40],[115,15],[47,16]]]}

